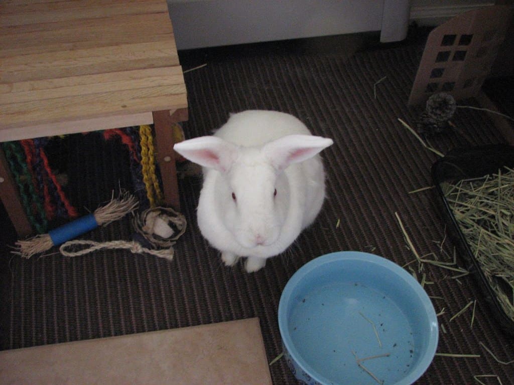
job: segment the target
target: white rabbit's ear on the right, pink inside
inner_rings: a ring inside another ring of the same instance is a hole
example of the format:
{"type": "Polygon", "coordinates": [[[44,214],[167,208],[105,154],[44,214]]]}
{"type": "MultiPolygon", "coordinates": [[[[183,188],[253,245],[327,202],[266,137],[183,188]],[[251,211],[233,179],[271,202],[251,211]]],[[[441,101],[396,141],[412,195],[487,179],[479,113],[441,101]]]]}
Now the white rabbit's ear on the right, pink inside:
{"type": "Polygon", "coordinates": [[[303,162],[314,157],[333,143],[332,139],[312,135],[288,135],[267,143],[262,151],[275,168],[283,170],[291,163],[303,162]]]}

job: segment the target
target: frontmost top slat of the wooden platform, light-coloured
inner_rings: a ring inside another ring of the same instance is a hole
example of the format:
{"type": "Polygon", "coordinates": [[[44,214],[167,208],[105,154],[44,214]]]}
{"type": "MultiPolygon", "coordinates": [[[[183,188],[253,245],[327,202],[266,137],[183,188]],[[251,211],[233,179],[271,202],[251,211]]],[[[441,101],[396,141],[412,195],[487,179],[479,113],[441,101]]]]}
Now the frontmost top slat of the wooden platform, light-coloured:
{"type": "Polygon", "coordinates": [[[0,132],[61,120],[87,119],[114,113],[135,113],[187,107],[185,85],[79,95],[74,98],[47,99],[0,106],[0,132]]]}

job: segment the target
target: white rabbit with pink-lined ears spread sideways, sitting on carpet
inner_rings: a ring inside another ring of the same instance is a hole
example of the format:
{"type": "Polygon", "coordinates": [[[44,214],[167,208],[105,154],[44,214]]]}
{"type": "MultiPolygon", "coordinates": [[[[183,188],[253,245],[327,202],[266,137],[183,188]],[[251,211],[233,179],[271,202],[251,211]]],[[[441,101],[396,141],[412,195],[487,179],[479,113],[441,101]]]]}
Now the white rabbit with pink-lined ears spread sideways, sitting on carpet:
{"type": "Polygon", "coordinates": [[[315,220],[325,199],[318,152],[332,144],[292,115],[264,110],[232,114],[213,136],[175,144],[203,166],[198,226],[226,265],[248,257],[246,271],[258,271],[315,220]]]}

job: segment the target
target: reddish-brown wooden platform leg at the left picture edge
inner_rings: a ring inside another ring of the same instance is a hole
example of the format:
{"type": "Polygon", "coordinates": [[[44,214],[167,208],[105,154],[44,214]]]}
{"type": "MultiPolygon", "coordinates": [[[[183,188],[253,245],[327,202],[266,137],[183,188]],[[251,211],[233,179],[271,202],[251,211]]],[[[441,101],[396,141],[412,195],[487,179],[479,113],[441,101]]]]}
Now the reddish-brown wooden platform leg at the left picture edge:
{"type": "Polygon", "coordinates": [[[22,238],[32,234],[32,226],[23,209],[20,193],[12,178],[2,148],[0,148],[0,199],[18,236],[22,238]]]}

